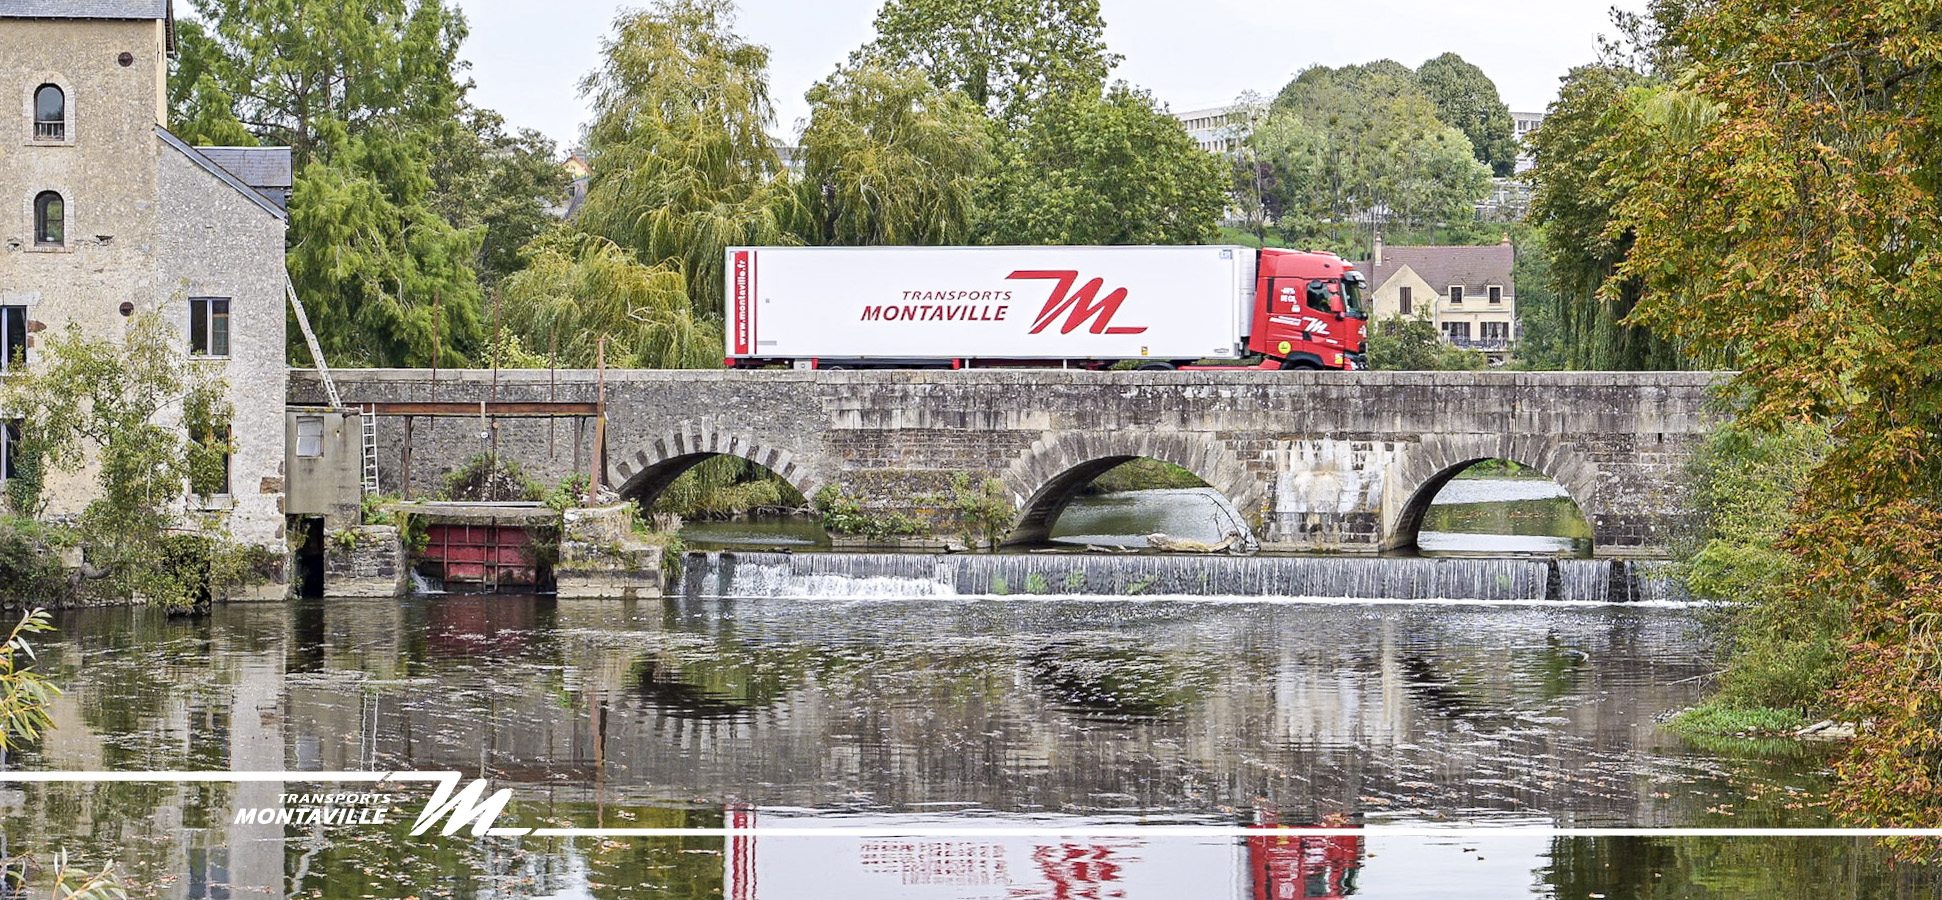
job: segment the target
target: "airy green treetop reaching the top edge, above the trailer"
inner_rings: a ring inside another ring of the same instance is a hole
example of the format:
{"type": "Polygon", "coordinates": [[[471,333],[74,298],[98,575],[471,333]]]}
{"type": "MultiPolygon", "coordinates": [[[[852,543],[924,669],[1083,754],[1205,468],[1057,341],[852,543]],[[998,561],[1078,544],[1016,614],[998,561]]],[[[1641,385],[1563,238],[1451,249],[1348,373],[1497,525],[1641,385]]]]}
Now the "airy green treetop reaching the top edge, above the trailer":
{"type": "Polygon", "coordinates": [[[887,0],[876,35],[853,66],[915,68],[1012,124],[1047,99],[1097,95],[1119,64],[1099,0],[887,0]]]}

